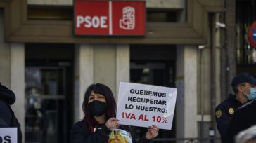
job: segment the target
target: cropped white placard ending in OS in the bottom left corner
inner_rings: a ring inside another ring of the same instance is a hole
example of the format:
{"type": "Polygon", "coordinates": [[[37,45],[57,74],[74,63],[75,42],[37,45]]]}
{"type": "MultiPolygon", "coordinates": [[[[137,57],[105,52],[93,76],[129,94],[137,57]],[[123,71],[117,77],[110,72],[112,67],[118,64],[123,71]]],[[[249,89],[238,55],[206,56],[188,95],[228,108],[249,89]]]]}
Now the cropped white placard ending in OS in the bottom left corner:
{"type": "Polygon", "coordinates": [[[17,143],[17,128],[0,128],[0,141],[17,143]]]}

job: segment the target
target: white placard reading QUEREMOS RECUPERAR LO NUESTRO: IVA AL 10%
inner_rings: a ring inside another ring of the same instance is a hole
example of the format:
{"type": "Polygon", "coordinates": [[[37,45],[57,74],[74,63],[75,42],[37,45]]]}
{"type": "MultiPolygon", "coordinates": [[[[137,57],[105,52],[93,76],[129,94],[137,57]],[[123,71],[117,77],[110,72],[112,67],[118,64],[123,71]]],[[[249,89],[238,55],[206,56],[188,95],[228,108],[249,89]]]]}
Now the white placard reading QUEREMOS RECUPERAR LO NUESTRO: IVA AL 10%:
{"type": "Polygon", "coordinates": [[[172,129],[177,88],[120,82],[117,119],[122,125],[172,129]]]}

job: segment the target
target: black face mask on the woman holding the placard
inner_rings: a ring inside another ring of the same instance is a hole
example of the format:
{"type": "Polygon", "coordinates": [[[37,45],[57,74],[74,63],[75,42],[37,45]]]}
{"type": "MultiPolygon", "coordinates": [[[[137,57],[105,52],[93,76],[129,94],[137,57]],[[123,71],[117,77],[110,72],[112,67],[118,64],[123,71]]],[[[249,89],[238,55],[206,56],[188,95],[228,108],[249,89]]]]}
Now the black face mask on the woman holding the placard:
{"type": "Polygon", "coordinates": [[[101,116],[107,111],[107,104],[98,100],[89,103],[89,111],[94,116],[101,116]]]}

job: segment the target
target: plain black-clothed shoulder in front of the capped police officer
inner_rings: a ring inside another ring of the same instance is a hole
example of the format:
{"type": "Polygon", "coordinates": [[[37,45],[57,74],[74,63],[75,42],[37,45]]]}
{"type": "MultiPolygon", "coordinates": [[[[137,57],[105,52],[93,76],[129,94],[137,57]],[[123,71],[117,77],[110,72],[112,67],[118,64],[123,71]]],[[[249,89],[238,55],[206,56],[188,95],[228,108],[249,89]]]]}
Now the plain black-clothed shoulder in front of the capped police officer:
{"type": "Polygon", "coordinates": [[[256,100],[243,104],[233,114],[224,137],[225,143],[233,143],[239,132],[256,125],[256,100]]]}

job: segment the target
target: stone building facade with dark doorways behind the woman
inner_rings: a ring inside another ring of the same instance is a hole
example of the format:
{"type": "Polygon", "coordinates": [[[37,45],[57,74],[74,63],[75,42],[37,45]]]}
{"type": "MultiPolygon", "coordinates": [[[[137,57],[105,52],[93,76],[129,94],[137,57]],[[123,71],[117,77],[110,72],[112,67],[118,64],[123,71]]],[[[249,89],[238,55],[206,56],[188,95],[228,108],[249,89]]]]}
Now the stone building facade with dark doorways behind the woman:
{"type": "Polygon", "coordinates": [[[215,130],[224,1],[148,0],[146,36],[75,36],[72,5],[0,0],[0,81],[17,95],[24,142],[68,142],[86,88],[104,83],[117,97],[120,81],[178,88],[173,128],[159,139],[215,130]]]}

